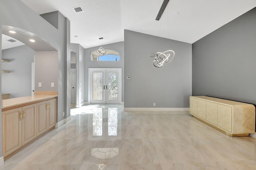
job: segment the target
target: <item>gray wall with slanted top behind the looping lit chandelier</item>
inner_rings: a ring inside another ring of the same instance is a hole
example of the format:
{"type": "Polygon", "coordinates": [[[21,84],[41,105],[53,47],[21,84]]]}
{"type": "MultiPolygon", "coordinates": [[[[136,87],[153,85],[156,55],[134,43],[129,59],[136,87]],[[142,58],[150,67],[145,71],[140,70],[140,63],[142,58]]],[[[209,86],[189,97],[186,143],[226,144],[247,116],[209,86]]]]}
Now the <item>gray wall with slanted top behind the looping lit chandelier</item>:
{"type": "Polygon", "coordinates": [[[124,55],[124,107],[189,107],[192,44],[124,30],[124,55]],[[172,62],[154,67],[150,53],[170,49],[175,52],[172,62]]]}

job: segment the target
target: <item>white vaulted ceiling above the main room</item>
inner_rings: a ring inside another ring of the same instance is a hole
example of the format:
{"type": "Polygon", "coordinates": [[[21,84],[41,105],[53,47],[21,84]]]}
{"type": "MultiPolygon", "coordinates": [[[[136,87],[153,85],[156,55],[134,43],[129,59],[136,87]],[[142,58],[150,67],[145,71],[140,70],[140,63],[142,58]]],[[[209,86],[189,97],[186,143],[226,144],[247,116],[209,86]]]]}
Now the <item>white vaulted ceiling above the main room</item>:
{"type": "Polygon", "coordinates": [[[124,41],[124,29],[194,43],[256,7],[256,0],[170,0],[156,21],[163,0],[21,1],[38,14],[60,11],[70,20],[71,43],[84,48],[124,41]],[[77,6],[84,12],[75,13],[77,6]]]}

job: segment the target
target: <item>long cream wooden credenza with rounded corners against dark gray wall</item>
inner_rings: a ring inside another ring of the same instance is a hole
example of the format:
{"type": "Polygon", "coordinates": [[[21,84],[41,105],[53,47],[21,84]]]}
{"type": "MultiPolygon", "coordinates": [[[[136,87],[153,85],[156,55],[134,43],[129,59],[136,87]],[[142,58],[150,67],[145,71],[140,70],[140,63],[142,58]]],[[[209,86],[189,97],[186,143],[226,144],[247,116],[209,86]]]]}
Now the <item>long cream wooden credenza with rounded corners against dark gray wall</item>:
{"type": "Polygon", "coordinates": [[[190,114],[228,136],[255,133],[255,107],[248,103],[190,96],[190,114]]]}

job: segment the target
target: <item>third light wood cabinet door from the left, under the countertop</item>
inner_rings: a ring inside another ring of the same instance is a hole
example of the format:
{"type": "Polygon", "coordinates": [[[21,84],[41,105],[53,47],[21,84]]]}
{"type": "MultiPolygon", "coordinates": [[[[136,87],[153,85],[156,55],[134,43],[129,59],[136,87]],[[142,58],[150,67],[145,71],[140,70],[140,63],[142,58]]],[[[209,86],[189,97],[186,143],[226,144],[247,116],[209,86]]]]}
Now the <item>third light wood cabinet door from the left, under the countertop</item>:
{"type": "Polygon", "coordinates": [[[47,130],[47,112],[46,112],[46,107],[47,107],[48,102],[43,101],[40,103],[37,103],[36,105],[36,124],[37,124],[37,136],[46,132],[47,130]]]}

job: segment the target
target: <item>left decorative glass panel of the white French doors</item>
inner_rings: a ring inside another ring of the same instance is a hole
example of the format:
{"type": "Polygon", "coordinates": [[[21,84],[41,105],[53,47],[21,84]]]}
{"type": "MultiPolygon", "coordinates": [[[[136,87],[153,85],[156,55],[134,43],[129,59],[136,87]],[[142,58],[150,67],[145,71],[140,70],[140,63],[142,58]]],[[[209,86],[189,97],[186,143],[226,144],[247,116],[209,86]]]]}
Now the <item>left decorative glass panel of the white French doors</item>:
{"type": "Polygon", "coordinates": [[[93,73],[93,100],[103,99],[102,86],[103,86],[103,74],[94,72],[93,73]]]}

